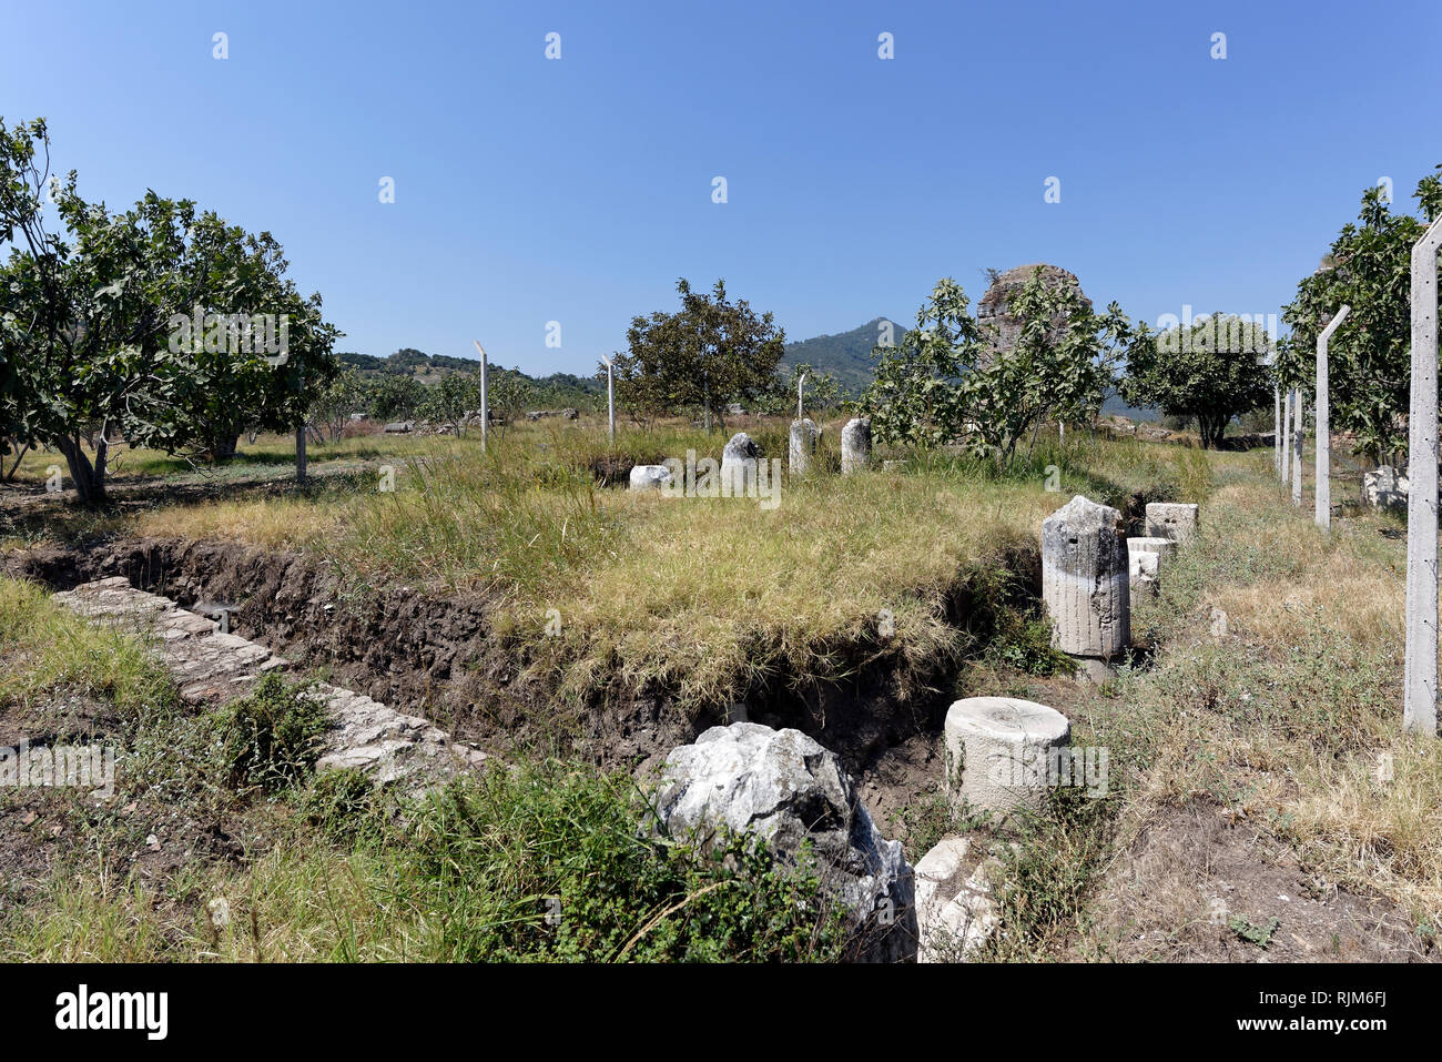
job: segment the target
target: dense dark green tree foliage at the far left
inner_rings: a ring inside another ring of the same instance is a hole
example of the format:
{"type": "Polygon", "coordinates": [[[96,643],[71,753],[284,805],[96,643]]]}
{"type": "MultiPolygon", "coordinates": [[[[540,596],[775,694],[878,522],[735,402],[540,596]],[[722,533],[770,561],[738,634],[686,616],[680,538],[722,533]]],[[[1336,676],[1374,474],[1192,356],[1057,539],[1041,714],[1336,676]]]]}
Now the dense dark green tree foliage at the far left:
{"type": "Polygon", "coordinates": [[[121,214],[88,203],[74,170],[50,173],[43,120],[0,121],[0,427],[59,450],[84,502],[105,496],[112,430],[167,453],[215,452],[226,437],[234,449],[247,423],[298,423],[336,371],[339,333],[320,297],[283,276],[268,232],[154,192],[121,214]],[[283,364],[252,349],[254,315],[287,320],[283,364]]]}

